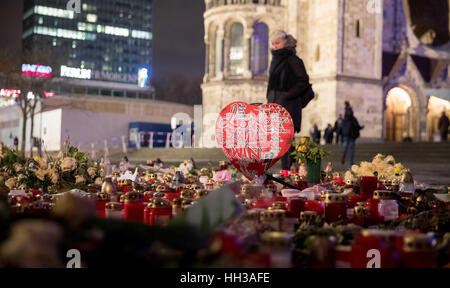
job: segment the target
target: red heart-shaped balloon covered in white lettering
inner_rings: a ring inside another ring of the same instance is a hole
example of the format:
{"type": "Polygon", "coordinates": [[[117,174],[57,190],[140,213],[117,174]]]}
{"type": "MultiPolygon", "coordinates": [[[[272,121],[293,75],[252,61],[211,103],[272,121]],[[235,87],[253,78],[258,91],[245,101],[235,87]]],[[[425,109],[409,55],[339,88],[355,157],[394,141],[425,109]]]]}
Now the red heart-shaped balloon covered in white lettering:
{"type": "Polygon", "coordinates": [[[274,103],[234,102],[220,112],[216,140],[248,179],[261,176],[288,152],[294,138],[291,115],[274,103]]]}

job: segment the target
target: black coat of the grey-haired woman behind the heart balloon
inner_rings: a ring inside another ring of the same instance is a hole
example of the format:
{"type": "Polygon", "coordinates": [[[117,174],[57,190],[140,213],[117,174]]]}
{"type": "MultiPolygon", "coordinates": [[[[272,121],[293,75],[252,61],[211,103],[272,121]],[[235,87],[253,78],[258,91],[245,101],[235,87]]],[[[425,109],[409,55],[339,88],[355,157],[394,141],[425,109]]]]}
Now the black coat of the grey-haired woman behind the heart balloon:
{"type": "Polygon", "coordinates": [[[283,48],[272,54],[267,102],[283,106],[291,114],[295,132],[300,132],[302,108],[314,97],[308,73],[295,48],[283,48]]]}

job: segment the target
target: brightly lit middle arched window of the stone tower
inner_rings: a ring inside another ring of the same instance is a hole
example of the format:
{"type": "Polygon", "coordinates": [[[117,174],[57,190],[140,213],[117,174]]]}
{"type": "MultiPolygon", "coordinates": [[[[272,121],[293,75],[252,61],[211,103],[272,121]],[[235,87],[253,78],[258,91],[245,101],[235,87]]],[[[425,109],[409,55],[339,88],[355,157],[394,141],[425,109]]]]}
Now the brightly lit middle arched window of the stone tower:
{"type": "Polygon", "coordinates": [[[230,30],[229,63],[231,76],[241,76],[244,73],[244,26],[233,23],[230,30]]]}

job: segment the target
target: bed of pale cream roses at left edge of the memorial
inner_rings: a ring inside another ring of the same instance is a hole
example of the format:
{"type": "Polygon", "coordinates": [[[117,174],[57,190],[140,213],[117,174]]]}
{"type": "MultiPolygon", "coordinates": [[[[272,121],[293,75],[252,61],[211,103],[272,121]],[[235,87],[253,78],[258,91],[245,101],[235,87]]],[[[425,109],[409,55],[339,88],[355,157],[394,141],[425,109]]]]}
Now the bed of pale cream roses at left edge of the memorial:
{"type": "Polygon", "coordinates": [[[102,164],[89,159],[84,152],[68,143],[57,156],[26,158],[20,153],[2,148],[0,155],[0,187],[3,190],[43,189],[61,192],[87,189],[99,183],[102,164]]]}

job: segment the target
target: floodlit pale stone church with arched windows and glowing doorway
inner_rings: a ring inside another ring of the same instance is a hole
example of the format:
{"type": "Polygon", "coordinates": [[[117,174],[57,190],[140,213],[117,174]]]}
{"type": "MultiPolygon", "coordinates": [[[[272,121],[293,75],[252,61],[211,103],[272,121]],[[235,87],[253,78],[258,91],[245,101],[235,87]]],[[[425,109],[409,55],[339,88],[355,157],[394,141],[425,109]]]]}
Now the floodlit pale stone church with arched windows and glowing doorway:
{"type": "Polygon", "coordinates": [[[217,113],[226,105],[266,102],[269,38],[278,29],[298,40],[316,93],[303,110],[301,135],[314,123],[334,125],[345,101],[365,126],[361,137],[372,141],[432,140],[440,110],[450,112],[449,49],[429,45],[432,29],[421,38],[414,33],[408,0],[205,3],[205,147],[215,142],[217,113]]]}

